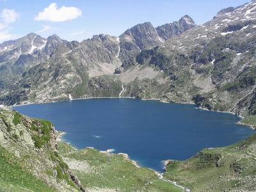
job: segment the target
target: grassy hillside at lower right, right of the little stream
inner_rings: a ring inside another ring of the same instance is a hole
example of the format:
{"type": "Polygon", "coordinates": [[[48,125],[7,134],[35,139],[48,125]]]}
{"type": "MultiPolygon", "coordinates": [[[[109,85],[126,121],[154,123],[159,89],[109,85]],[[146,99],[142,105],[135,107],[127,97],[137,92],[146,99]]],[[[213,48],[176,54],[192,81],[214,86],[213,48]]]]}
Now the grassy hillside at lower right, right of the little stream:
{"type": "Polygon", "coordinates": [[[256,134],[228,147],[207,148],[186,161],[172,161],[164,178],[192,191],[255,191],[256,134]]]}

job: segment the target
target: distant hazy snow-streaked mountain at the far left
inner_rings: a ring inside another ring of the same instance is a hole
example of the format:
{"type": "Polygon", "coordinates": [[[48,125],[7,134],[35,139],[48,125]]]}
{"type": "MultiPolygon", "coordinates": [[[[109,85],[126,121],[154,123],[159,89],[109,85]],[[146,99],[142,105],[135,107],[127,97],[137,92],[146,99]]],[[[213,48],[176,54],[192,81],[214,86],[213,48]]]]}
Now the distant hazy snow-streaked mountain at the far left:
{"type": "Polygon", "coordinates": [[[41,51],[45,43],[45,38],[29,33],[17,40],[0,44],[0,84],[12,84],[22,72],[40,60],[42,56],[36,57],[36,52],[41,51]],[[32,56],[34,52],[36,58],[32,56]]]}

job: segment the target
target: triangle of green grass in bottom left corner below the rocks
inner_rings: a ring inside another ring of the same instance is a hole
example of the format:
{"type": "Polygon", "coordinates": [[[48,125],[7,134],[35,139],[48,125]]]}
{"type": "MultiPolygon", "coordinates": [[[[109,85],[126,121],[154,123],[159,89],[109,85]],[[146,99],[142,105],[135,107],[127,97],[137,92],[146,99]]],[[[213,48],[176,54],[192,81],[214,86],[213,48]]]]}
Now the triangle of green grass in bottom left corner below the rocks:
{"type": "Polygon", "coordinates": [[[0,170],[0,191],[56,191],[26,172],[3,147],[0,147],[0,170]]]}

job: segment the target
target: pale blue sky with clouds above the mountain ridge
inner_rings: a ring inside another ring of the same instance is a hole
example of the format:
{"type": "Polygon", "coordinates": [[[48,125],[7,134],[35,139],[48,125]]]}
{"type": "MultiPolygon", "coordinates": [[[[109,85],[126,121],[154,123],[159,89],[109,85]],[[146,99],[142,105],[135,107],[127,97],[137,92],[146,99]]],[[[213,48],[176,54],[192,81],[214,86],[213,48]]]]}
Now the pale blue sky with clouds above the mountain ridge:
{"type": "Polygon", "coordinates": [[[211,20],[228,6],[250,0],[0,0],[0,42],[36,33],[56,34],[66,40],[93,35],[119,36],[132,26],[153,26],[191,16],[196,24],[211,20]]]}

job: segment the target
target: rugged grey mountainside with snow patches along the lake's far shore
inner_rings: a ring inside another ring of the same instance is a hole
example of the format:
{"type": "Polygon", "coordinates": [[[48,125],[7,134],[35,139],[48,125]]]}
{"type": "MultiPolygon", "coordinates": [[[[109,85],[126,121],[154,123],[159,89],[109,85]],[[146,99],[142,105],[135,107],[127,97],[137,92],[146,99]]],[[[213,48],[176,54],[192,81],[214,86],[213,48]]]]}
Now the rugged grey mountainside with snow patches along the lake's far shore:
{"type": "Polygon", "coordinates": [[[157,28],[145,22],[119,37],[95,35],[81,43],[34,35],[42,49],[0,63],[0,102],[118,97],[123,84],[121,96],[254,115],[255,8],[255,1],[227,8],[200,26],[188,15],[157,28]]]}

